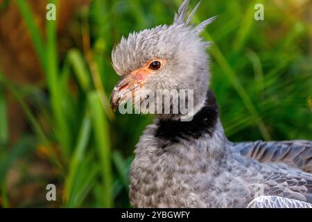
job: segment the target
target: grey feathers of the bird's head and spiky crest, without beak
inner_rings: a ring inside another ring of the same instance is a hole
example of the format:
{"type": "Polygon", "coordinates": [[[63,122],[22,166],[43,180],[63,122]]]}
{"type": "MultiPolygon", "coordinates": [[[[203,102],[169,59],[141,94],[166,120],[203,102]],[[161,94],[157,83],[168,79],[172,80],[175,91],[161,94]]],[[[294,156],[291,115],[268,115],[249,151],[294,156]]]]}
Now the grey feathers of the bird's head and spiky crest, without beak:
{"type": "Polygon", "coordinates": [[[198,26],[189,24],[200,3],[189,17],[189,1],[186,0],[175,15],[173,24],[156,26],[122,37],[112,51],[112,65],[125,76],[140,69],[146,62],[159,58],[166,65],[157,74],[149,75],[141,89],[155,92],[157,89],[193,89],[194,110],[205,103],[209,88],[209,42],[200,37],[203,29],[216,17],[198,26]]]}

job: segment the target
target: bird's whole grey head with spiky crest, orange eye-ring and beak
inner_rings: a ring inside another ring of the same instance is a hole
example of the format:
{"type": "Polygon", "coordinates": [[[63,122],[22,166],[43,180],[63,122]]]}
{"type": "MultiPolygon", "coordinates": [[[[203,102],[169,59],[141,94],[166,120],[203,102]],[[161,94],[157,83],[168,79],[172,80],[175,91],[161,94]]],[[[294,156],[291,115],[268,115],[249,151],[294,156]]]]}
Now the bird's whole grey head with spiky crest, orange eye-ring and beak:
{"type": "MultiPolygon", "coordinates": [[[[111,96],[114,110],[129,99],[132,99],[132,104],[136,107],[150,96],[150,92],[155,95],[159,89],[177,92],[182,89],[193,90],[194,112],[204,105],[209,87],[209,58],[206,52],[209,42],[205,42],[200,33],[215,17],[198,26],[190,25],[200,3],[189,17],[188,5],[189,0],[182,3],[170,26],[162,25],[131,33],[127,38],[122,37],[121,42],[114,47],[112,65],[121,76],[111,96]],[[134,102],[136,94],[141,96],[139,101],[134,102]]],[[[157,106],[157,101],[155,103],[157,106]]],[[[148,112],[148,109],[141,108],[141,112],[148,112]]],[[[160,116],[173,117],[173,114],[160,116]]]]}

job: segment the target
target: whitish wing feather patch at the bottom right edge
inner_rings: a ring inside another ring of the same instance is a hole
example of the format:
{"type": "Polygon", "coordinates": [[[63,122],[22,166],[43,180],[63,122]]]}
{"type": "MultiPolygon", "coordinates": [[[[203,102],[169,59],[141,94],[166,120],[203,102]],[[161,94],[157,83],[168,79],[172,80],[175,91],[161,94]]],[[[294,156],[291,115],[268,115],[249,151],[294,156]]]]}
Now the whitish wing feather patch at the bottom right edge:
{"type": "Polygon", "coordinates": [[[312,208],[312,204],[280,196],[259,196],[248,204],[248,208],[312,208]]]}

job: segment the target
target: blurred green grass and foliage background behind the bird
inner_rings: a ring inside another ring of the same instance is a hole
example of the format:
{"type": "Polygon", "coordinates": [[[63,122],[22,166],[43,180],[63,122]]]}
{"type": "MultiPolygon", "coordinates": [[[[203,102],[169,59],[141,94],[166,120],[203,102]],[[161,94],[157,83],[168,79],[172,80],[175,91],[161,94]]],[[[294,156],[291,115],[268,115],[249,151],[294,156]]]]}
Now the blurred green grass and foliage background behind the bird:
{"type": "MultiPolygon", "coordinates": [[[[46,22],[42,37],[27,2],[16,0],[46,75],[48,94],[36,85],[10,83],[0,73],[3,207],[51,206],[44,201],[45,186],[51,182],[58,187],[54,207],[130,207],[128,170],[139,135],[152,117],[110,110],[108,98],[118,80],[110,52],[122,35],[171,24],[181,2],[94,0],[73,22],[83,49],[59,56],[55,22],[46,22]],[[4,89],[19,101],[30,126],[17,144],[8,142],[4,89]],[[42,152],[44,157],[38,157],[42,152]],[[12,205],[8,172],[21,161],[38,158],[49,164],[53,176],[32,177],[22,164],[18,169],[26,179],[19,186],[35,181],[42,194],[38,200],[12,205]]],[[[259,2],[265,6],[264,21],[254,20],[256,1],[229,0],[202,1],[193,19],[198,24],[218,15],[202,36],[212,42],[211,88],[226,134],[237,142],[312,139],[312,23],[279,1],[259,2]]],[[[306,4],[311,6],[311,1],[306,4]]]]}

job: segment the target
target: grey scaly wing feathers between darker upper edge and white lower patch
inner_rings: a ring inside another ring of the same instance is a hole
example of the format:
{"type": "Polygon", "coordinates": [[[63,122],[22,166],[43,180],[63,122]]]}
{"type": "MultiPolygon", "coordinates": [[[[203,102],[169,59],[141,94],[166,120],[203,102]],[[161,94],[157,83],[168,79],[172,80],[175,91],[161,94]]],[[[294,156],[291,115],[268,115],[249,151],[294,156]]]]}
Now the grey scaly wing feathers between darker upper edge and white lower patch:
{"type": "MultiPolygon", "coordinates": [[[[235,146],[233,146],[235,147],[235,146]]],[[[279,196],[312,203],[312,174],[284,162],[258,162],[257,155],[241,154],[243,146],[233,153],[233,172],[239,174],[252,189],[252,198],[259,196],[279,196]]],[[[273,155],[274,156],[274,155],[273,155]]],[[[279,160],[279,159],[277,159],[279,160]]]]}

